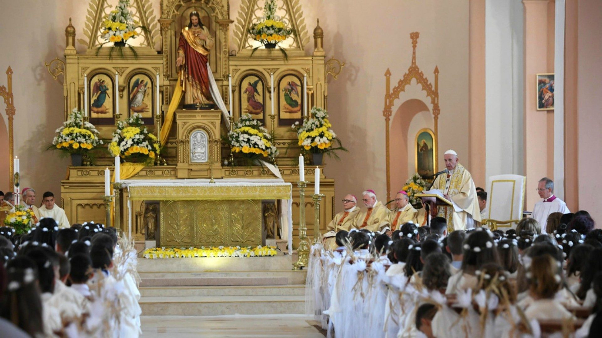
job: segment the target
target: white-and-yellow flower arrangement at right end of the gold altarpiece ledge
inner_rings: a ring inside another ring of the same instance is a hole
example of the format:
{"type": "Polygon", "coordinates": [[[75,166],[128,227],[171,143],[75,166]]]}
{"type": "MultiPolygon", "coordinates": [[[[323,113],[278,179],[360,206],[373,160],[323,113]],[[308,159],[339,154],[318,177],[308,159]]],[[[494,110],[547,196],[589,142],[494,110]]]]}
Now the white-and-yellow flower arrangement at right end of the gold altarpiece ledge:
{"type": "Polygon", "coordinates": [[[330,129],[332,124],[328,120],[328,112],[322,108],[311,108],[311,117],[303,121],[303,124],[295,122],[292,128],[297,133],[299,146],[304,152],[312,154],[314,165],[322,164],[322,155],[326,154],[335,159],[340,159],[337,150],[346,152],[337,134],[330,129]]]}

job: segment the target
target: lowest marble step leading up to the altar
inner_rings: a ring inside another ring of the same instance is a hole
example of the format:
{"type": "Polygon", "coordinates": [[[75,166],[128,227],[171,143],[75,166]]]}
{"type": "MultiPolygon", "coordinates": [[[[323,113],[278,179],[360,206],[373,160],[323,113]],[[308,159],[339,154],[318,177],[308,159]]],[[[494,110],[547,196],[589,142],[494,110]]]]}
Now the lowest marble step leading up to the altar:
{"type": "Polygon", "coordinates": [[[305,313],[305,296],[141,297],[143,316],[305,313]]]}

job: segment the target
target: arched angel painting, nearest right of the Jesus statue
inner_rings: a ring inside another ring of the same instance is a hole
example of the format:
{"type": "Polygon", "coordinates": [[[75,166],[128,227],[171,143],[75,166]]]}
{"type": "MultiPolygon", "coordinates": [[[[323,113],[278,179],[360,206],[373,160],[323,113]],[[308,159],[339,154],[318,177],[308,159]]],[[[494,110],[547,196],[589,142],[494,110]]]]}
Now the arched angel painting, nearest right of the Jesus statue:
{"type": "Polygon", "coordinates": [[[265,84],[256,74],[248,74],[238,84],[241,114],[249,114],[265,126],[265,84]]]}

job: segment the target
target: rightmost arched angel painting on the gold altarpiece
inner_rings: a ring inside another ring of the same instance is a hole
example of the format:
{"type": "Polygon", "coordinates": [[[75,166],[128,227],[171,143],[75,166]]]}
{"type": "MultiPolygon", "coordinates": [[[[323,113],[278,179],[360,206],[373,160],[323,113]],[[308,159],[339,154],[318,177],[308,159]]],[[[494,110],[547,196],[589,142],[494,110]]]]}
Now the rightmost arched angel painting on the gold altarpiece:
{"type": "Polygon", "coordinates": [[[303,123],[303,80],[295,74],[282,76],[278,81],[278,126],[303,123]]]}

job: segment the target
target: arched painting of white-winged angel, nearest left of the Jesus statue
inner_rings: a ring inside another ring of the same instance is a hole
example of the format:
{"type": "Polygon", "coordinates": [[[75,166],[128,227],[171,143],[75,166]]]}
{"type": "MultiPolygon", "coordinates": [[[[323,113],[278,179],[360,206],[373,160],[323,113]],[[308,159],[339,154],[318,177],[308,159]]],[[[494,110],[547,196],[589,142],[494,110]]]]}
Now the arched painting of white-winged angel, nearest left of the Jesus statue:
{"type": "Polygon", "coordinates": [[[128,117],[138,113],[144,124],[154,124],[155,83],[146,73],[134,73],[128,80],[128,117]]]}

